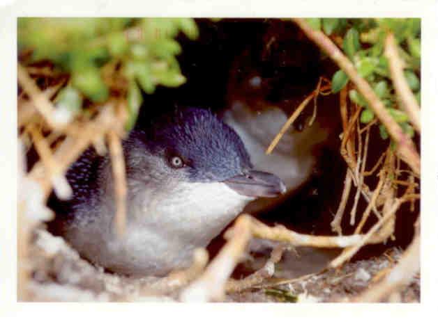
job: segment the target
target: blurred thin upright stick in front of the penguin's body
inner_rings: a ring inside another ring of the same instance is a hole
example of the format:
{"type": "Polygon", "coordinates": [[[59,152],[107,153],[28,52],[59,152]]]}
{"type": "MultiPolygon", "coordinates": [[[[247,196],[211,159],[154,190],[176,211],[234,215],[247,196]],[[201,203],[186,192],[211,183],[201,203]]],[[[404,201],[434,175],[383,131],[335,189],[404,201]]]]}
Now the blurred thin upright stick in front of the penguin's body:
{"type": "Polygon", "coordinates": [[[112,174],[114,175],[114,195],[116,200],[116,214],[114,228],[119,236],[123,236],[126,228],[126,167],[123,158],[121,140],[115,131],[107,134],[110,145],[112,174]]]}

